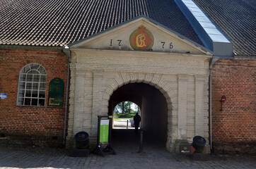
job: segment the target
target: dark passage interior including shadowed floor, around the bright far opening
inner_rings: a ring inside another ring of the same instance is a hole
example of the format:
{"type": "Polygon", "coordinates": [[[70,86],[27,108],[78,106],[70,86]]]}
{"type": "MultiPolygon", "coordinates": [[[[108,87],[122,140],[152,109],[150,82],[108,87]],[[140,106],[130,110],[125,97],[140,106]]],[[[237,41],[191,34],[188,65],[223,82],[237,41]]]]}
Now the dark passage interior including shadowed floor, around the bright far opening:
{"type": "MultiPolygon", "coordinates": [[[[165,146],[168,132],[168,104],[165,96],[150,84],[124,84],[110,97],[108,115],[114,116],[115,106],[122,101],[131,101],[139,106],[144,144],[165,146]]],[[[112,142],[137,146],[139,134],[134,130],[112,129],[112,142]]]]}

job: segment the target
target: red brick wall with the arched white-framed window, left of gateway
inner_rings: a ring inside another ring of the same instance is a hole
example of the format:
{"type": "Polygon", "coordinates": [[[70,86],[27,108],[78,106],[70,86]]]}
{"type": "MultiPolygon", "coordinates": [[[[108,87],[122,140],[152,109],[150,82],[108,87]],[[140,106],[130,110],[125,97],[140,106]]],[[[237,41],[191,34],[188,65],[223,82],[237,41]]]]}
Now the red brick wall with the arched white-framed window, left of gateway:
{"type": "Polygon", "coordinates": [[[2,140],[38,146],[62,144],[65,108],[47,107],[47,99],[50,80],[55,77],[65,83],[65,98],[68,60],[61,49],[0,49],[0,92],[8,94],[0,100],[2,140]],[[19,73],[28,63],[39,63],[47,71],[44,107],[16,106],[19,73]]]}

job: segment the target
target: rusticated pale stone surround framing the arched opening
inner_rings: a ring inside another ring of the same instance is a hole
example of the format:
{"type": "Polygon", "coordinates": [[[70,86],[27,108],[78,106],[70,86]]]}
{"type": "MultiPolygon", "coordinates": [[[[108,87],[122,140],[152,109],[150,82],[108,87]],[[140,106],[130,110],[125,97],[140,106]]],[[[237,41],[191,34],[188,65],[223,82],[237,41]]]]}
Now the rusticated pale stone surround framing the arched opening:
{"type": "Polygon", "coordinates": [[[108,85],[108,87],[103,92],[103,102],[102,102],[102,110],[103,112],[107,112],[109,106],[109,100],[112,93],[119,87],[128,83],[145,83],[150,84],[153,87],[156,87],[166,99],[168,106],[168,136],[166,142],[166,148],[169,151],[173,151],[173,144],[175,139],[177,139],[175,130],[177,129],[177,125],[174,126],[173,123],[173,113],[178,110],[177,107],[177,96],[173,91],[173,87],[163,80],[162,75],[156,74],[142,74],[142,73],[133,73],[133,74],[122,74],[118,73],[115,78],[112,79],[112,83],[108,85]],[[174,103],[174,104],[173,104],[174,103]]]}

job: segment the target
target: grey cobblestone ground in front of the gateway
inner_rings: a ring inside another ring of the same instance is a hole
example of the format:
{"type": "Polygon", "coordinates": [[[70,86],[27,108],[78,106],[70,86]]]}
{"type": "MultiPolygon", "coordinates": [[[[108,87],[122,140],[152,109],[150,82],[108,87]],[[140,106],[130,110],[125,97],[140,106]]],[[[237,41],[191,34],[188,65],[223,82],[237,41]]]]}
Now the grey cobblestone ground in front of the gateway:
{"type": "Polygon", "coordinates": [[[0,145],[0,168],[256,168],[253,156],[211,156],[210,161],[192,161],[170,154],[165,149],[145,148],[145,154],[130,146],[116,146],[117,155],[105,157],[90,154],[88,157],[70,157],[64,149],[47,149],[29,146],[0,145]]]}

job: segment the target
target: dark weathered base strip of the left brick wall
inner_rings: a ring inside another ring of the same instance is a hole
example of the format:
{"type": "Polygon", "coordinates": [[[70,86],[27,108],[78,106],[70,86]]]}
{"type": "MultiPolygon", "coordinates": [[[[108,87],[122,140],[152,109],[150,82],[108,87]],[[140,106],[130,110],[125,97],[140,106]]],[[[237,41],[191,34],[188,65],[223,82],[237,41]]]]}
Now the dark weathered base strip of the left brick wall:
{"type": "Polygon", "coordinates": [[[62,137],[38,135],[6,135],[0,138],[0,144],[17,144],[25,146],[64,147],[62,137]]]}

